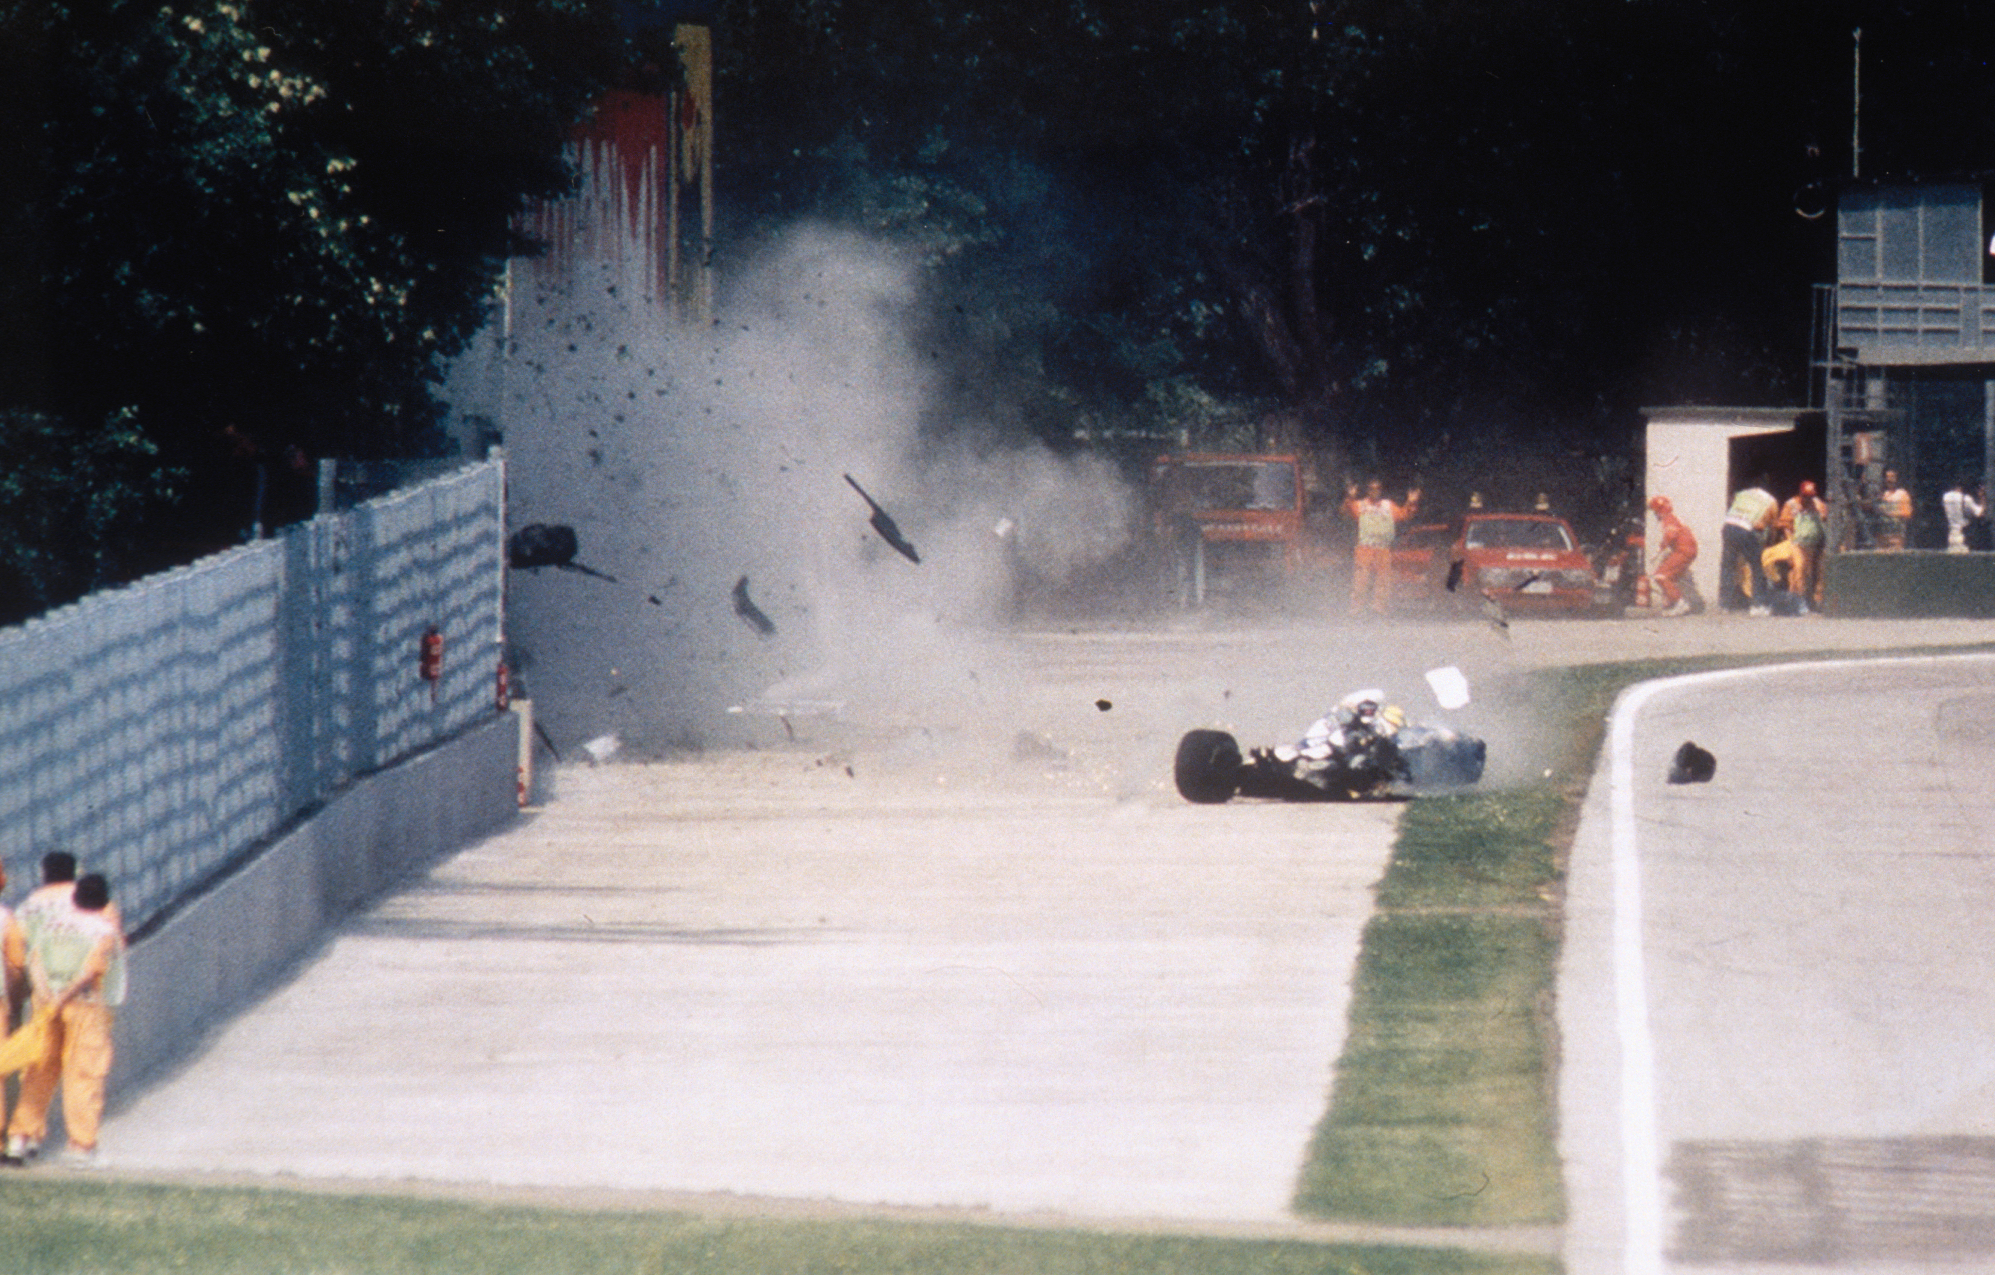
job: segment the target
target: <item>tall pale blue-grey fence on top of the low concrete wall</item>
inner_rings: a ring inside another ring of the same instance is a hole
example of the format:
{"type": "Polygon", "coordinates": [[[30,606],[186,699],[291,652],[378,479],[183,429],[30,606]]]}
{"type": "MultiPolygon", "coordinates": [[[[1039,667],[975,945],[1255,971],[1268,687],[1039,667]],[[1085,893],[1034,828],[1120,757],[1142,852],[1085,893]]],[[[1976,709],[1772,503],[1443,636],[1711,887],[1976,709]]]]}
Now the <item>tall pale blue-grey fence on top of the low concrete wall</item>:
{"type": "Polygon", "coordinates": [[[70,850],[142,930],[493,712],[503,623],[505,463],[485,461],[0,631],[10,894],[70,850]]]}

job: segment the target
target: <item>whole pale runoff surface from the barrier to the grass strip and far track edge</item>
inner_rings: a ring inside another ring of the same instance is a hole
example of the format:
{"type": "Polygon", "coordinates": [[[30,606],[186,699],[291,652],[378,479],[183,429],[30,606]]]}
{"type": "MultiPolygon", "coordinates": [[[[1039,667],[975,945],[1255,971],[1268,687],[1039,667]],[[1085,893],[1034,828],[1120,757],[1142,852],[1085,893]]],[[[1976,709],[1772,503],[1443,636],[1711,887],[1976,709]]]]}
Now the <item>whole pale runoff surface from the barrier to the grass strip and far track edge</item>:
{"type": "MultiPolygon", "coordinates": [[[[1293,1231],[1398,808],[1189,806],[1181,730],[1283,742],[1361,684],[1434,716],[1418,670],[1456,664],[1478,700],[1454,716],[1500,782],[1556,752],[1510,698],[1532,666],[1991,638],[1734,617],[992,637],[980,684],[1005,690],[954,716],[561,768],[517,830],[355,916],[114,1111],[106,1155],[563,1203],[1293,1231]]],[[[1823,788],[1803,800],[1899,800],[1823,788]]],[[[1576,1004],[1568,1038],[1612,1034],[1576,1004]]]]}

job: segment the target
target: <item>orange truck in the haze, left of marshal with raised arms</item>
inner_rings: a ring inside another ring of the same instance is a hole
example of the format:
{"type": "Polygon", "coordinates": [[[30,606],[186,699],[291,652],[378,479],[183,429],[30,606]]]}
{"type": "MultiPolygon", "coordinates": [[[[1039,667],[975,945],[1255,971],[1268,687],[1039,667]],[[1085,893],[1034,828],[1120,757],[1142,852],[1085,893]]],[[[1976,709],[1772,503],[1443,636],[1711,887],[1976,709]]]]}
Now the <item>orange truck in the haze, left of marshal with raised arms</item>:
{"type": "Polygon", "coordinates": [[[1151,531],[1173,567],[1177,601],[1301,571],[1309,499],[1303,465],[1285,453],[1185,451],[1151,465],[1151,531]]]}

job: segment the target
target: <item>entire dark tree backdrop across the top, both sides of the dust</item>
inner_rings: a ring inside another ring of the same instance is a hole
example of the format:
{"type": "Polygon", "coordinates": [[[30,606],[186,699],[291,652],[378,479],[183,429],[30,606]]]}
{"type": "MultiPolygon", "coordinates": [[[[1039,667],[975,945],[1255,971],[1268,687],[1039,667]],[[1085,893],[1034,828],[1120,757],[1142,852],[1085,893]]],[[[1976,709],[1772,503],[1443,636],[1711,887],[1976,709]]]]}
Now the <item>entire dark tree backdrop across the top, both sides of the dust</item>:
{"type": "Polygon", "coordinates": [[[1797,202],[1995,158],[1971,0],[0,0],[0,613],[239,527],[231,467],[431,445],[513,213],[678,20],[722,277],[894,237],[936,429],[1059,445],[1606,473],[1640,405],[1801,399],[1797,202]]]}

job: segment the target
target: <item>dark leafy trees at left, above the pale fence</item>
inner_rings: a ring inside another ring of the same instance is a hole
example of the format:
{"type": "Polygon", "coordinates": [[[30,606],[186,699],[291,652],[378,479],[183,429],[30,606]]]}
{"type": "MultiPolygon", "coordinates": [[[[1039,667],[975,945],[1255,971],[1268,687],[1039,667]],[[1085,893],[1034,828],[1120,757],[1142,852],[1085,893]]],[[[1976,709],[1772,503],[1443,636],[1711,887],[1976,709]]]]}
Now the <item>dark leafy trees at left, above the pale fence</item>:
{"type": "Polygon", "coordinates": [[[597,0],[6,0],[0,48],[0,407],[86,453],[140,431],[188,499],[114,501],[201,543],[247,523],[243,457],[431,445],[439,359],[622,56],[597,0]]]}

